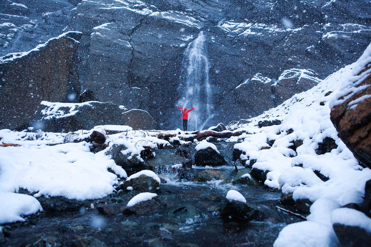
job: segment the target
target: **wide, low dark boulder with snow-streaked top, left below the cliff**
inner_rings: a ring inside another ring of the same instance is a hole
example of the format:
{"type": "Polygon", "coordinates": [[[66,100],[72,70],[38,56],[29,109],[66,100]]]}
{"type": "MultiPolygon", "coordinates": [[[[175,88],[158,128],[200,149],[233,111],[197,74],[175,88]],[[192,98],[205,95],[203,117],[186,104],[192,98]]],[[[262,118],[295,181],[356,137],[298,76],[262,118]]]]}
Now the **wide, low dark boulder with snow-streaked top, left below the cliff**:
{"type": "Polygon", "coordinates": [[[98,101],[85,103],[42,101],[32,123],[33,127],[47,132],[90,130],[96,125],[104,124],[125,124],[118,105],[98,101]]]}

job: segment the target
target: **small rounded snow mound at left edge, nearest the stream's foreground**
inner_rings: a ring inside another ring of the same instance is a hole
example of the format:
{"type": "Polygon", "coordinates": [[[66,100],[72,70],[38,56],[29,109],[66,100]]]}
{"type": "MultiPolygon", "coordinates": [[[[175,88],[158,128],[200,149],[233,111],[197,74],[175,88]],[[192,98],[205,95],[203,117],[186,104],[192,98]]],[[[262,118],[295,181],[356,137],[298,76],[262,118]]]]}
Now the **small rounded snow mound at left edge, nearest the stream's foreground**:
{"type": "Polygon", "coordinates": [[[43,210],[39,201],[29,195],[0,192],[0,198],[0,224],[24,221],[21,216],[35,214],[43,210]]]}

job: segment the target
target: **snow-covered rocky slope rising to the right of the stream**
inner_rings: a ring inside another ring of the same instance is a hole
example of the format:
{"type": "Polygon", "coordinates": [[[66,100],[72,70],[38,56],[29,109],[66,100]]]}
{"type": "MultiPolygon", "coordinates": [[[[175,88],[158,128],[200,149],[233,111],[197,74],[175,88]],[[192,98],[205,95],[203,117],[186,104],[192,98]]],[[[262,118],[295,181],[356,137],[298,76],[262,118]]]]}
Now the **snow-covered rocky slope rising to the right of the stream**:
{"type": "MultiPolygon", "coordinates": [[[[232,137],[242,141],[234,147],[243,151],[241,158],[249,159],[247,164],[256,160],[253,168],[269,171],[265,180],[267,186],[280,188],[284,194],[293,193],[294,200],[313,202],[308,221],[285,227],[275,247],[337,246],[338,240],[332,229],[334,222],[330,220],[332,211],[348,203],[362,202],[371,170],[359,166],[339,138],[330,120],[330,106],[334,104],[333,98],[338,99],[340,89],[360,79],[357,74],[370,61],[371,44],[357,62],[328,76],[311,90],[295,94],[280,106],[249,119],[252,123],[239,128],[251,134],[232,137]],[[282,123],[259,128],[257,123],[262,120],[280,120],[282,123]],[[337,147],[317,154],[316,150],[326,137],[332,138],[337,147]],[[297,140],[302,140],[302,145],[295,152],[290,147],[297,140]],[[267,142],[273,143],[272,147],[262,149],[269,147],[267,142]],[[329,179],[321,180],[315,171],[329,179]]],[[[367,220],[366,216],[362,217],[367,220]]]]}

